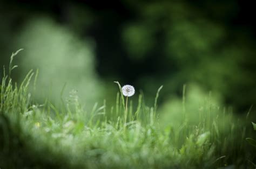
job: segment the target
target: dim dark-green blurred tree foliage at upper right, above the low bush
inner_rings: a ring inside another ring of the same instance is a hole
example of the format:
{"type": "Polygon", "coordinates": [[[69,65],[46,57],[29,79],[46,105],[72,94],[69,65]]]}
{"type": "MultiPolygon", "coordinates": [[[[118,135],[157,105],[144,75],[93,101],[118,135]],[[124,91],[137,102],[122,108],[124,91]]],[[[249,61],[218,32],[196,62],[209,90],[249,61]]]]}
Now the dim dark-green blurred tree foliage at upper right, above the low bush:
{"type": "Polygon", "coordinates": [[[224,103],[239,110],[255,103],[255,68],[246,66],[256,66],[250,37],[206,18],[203,11],[186,3],[140,5],[138,19],[124,29],[124,42],[131,59],[146,61],[152,52],[156,58],[152,65],[158,73],[140,77],[140,85],[146,84],[143,88],[149,79],[167,86],[167,93],[180,90],[184,83],[196,83],[223,95],[224,103]]]}

